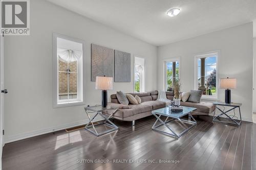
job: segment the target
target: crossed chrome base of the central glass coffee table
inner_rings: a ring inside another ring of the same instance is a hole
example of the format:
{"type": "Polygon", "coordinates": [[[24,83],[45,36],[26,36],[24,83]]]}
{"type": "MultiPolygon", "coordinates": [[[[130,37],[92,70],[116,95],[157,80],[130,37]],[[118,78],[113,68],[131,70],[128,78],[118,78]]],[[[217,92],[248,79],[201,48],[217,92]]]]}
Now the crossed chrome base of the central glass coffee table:
{"type": "MultiPolygon", "coordinates": [[[[185,120],[185,119],[182,119],[182,118],[180,118],[180,117],[177,117],[177,118],[172,118],[172,117],[170,117],[171,119],[168,120],[168,118],[169,118],[168,116],[166,116],[165,121],[163,121],[163,120],[160,118],[161,115],[158,116],[158,115],[157,115],[156,113],[154,113],[154,112],[152,112],[152,114],[157,118],[155,124],[154,124],[153,127],[152,127],[152,130],[157,131],[157,132],[162,133],[162,134],[167,135],[167,136],[175,137],[175,138],[177,138],[177,139],[179,139],[179,138],[180,138],[184,133],[186,133],[189,129],[191,129],[191,128],[193,128],[194,126],[197,125],[197,121],[195,120],[195,118],[194,118],[190,113],[188,113],[188,117],[191,117],[194,121],[185,120]],[[184,129],[180,134],[176,133],[170,126],[167,125],[167,123],[169,123],[169,122],[171,122],[171,121],[173,121],[173,120],[178,120],[183,126],[185,126],[185,129],[184,129]],[[156,125],[158,121],[160,122],[160,124],[159,124],[159,125],[156,125]],[[187,127],[187,126],[185,125],[185,123],[191,124],[191,126],[187,127]],[[165,126],[165,127],[169,130],[169,132],[166,132],[166,131],[157,129],[157,128],[160,127],[160,126],[165,126]]],[[[164,115],[164,116],[165,116],[165,115],[164,115]]]]}

